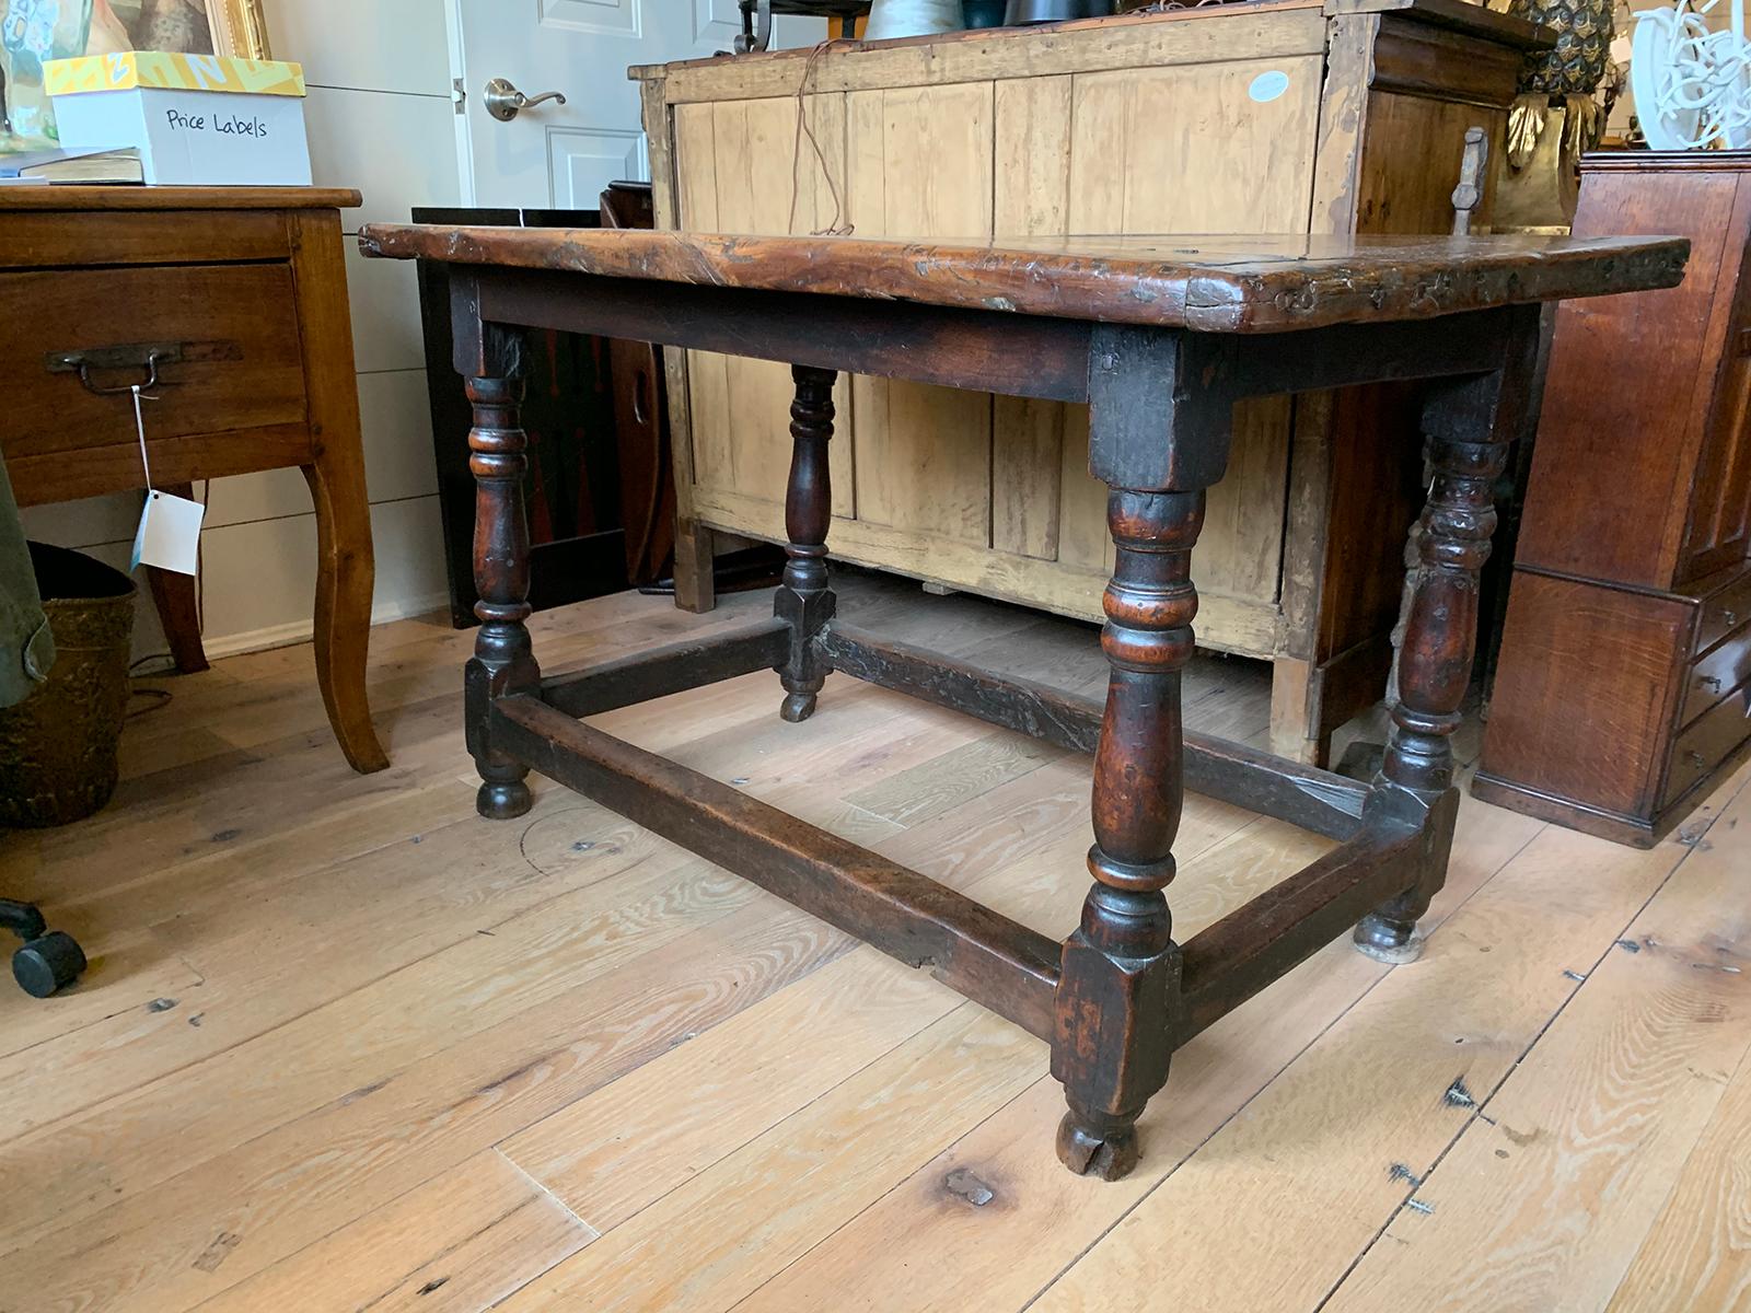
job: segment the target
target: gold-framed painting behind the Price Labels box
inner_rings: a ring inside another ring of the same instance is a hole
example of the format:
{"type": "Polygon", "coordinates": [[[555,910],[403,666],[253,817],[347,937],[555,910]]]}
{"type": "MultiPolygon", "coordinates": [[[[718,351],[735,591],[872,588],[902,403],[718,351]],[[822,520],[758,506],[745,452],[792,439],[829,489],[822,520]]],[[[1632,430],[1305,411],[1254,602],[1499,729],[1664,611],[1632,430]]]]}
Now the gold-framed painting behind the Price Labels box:
{"type": "Polygon", "coordinates": [[[42,65],[114,51],[266,60],[263,0],[0,0],[0,151],[56,144],[42,65]]]}

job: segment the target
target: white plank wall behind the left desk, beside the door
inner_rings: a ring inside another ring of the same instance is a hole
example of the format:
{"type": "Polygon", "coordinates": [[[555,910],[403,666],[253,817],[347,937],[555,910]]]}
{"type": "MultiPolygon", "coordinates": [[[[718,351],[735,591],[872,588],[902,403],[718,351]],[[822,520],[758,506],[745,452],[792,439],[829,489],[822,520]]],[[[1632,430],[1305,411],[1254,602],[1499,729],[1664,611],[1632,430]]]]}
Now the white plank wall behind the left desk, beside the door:
{"type": "MultiPolygon", "coordinates": [[[[361,222],[406,219],[413,205],[461,200],[445,0],[270,0],[266,11],[275,58],[303,63],[310,84],[315,182],[364,193],[364,207],[341,224],[376,546],[375,618],[429,611],[447,593],[413,266],[364,261],[352,235],[361,222]]],[[[306,639],[315,516],[303,474],[214,480],[207,502],[208,655],[306,639]]],[[[138,515],[138,494],[93,497],[30,508],[25,530],[126,567],[138,515]]],[[[135,651],[151,655],[165,646],[144,593],[142,578],[135,651]]]]}

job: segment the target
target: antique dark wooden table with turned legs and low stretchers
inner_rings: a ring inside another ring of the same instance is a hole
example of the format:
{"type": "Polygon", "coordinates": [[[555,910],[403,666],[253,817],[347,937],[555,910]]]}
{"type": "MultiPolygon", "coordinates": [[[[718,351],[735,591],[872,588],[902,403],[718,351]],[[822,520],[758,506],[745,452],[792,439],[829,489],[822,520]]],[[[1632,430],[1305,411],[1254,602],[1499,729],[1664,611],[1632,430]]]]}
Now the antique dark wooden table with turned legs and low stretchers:
{"type": "Polygon", "coordinates": [[[1178,1045],[1350,926],[1376,954],[1415,952],[1417,919],[1446,877],[1459,800],[1448,737],[1471,674],[1490,485],[1529,418],[1537,303],[1670,287],[1688,252],[1658,238],[907,243],[418,226],[369,226],[361,245],[455,266],[455,362],[475,408],[478,480],[482,627],[466,718],[485,781],[480,814],[525,812],[524,779],[539,770],[928,966],[1052,1045],[1070,1103],[1058,1154],[1107,1178],[1136,1162],[1136,1119],[1178,1045]],[[525,326],[791,364],[790,562],[772,620],[541,676],[524,627],[525,326]],[[1105,707],[833,620],[826,443],[839,369],[1089,403],[1089,466],[1110,487],[1117,550],[1105,707]],[[1434,480],[1380,776],[1359,784],[1184,734],[1191,553],[1234,401],[1404,378],[1432,380],[1422,427],[1434,480]],[[790,721],[809,716],[828,671],[844,671],[1093,753],[1094,884],[1080,926],[1058,944],[581,723],[767,667],[790,721]],[[1180,945],[1164,889],[1185,784],[1338,846],[1180,945]]]}

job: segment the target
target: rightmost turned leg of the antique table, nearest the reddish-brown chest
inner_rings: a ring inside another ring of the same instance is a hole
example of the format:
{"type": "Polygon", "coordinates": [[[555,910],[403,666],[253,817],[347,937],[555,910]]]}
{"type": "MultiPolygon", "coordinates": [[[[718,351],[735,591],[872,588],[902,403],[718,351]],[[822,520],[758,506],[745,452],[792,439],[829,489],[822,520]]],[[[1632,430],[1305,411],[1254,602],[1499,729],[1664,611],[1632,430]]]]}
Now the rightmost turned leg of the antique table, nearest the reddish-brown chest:
{"type": "Polygon", "coordinates": [[[1422,954],[1417,921],[1446,881],[1453,807],[1443,805],[1443,797],[1453,786],[1452,735],[1471,683],[1478,574],[1495,532],[1494,485],[1520,411],[1518,376],[1504,369],[1443,383],[1424,406],[1432,478],[1413,532],[1418,567],[1399,646],[1392,735],[1375,790],[1399,790],[1403,802],[1431,818],[1431,833],[1417,882],[1355,928],[1357,947],[1382,961],[1422,954]]]}

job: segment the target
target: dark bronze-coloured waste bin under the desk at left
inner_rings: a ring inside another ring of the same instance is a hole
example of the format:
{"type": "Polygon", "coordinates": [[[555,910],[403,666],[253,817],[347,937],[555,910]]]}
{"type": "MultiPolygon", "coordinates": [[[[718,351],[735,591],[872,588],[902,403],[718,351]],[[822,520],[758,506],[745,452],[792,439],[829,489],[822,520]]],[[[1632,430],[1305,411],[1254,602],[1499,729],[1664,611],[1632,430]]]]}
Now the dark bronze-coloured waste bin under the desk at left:
{"type": "Polygon", "coordinates": [[[128,714],[133,579],[67,548],[30,544],[54,634],[49,678],[0,709],[0,826],[67,825],[116,791],[128,714]]]}

